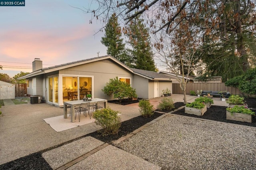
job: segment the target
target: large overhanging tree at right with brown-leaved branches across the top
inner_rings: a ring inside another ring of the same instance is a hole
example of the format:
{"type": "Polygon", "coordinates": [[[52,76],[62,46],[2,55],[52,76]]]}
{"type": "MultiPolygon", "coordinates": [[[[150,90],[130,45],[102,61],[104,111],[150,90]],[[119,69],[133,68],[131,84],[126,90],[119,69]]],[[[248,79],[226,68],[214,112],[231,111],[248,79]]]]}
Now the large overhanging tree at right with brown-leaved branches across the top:
{"type": "Polygon", "coordinates": [[[148,26],[154,33],[164,30],[170,35],[178,25],[182,24],[181,21],[189,20],[194,23],[196,25],[194,31],[203,35],[202,40],[205,42],[205,45],[200,44],[202,45],[200,49],[205,49],[205,53],[201,53],[205,55],[198,55],[204,58],[198,61],[204,63],[210,59],[205,63],[209,75],[223,74],[224,79],[231,78],[235,76],[231,72],[236,70],[236,74],[241,74],[249,68],[248,58],[249,61],[255,59],[256,13],[251,0],[119,0],[116,3],[97,0],[96,2],[99,8],[91,10],[93,17],[104,21],[108,17],[105,14],[113,10],[124,18],[127,24],[137,16],[141,16],[147,20],[148,26]],[[228,61],[234,62],[235,66],[225,67],[228,61]],[[218,68],[219,65],[221,67],[218,68]],[[222,71],[224,68],[228,70],[222,71]],[[231,68],[234,69],[230,70],[231,68]]]}

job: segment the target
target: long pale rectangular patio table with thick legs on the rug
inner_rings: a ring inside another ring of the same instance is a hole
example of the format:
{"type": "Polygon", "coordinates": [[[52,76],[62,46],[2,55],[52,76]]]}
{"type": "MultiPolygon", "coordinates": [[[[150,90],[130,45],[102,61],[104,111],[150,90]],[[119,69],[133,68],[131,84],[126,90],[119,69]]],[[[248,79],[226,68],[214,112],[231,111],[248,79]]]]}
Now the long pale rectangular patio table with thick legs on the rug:
{"type": "Polygon", "coordinates": [[[108,100],[106,99],[99,99],[99,98],[92,98],[92,101],[85,102],[83,100],[74,100],[64,102],[64,119],[67,119],[67,106],[70,106],[71,111],[71,122],[75,122],[75,107],[80,105],[81,103],[89,103],[90,104],[97,104],[97,103],[104,103],[104,108],[107,107],[108,100]]]}

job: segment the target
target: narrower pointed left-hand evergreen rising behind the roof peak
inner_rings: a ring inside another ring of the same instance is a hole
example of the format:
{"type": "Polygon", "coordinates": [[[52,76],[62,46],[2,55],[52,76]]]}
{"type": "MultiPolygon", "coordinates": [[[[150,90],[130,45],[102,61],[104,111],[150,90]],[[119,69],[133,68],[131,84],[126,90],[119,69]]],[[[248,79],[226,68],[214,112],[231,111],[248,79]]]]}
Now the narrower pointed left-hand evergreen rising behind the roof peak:
{"type": "Polygon", "coordinates": [[[123,61],[124,46],[122,37],[121,27],[118,23],[118,18],[115,13],[112,14],[108,23],[105,26],[105,35],[102,37],[101,43],[105,45],[107,54],[123,61]]]}

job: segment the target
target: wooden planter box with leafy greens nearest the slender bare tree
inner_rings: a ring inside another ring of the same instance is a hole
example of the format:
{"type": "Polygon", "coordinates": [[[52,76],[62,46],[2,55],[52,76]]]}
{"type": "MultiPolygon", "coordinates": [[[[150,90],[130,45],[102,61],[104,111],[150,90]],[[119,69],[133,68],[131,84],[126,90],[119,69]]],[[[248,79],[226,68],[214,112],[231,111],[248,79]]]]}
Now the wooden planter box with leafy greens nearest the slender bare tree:
{"type": "Polygon", "coordinates": [[[185,113],[194,114],[198,116],[202,116],[207,111],[207,107],[204,103],[200,102],[192,102],[190,104],[186,104],[185,113]]]}

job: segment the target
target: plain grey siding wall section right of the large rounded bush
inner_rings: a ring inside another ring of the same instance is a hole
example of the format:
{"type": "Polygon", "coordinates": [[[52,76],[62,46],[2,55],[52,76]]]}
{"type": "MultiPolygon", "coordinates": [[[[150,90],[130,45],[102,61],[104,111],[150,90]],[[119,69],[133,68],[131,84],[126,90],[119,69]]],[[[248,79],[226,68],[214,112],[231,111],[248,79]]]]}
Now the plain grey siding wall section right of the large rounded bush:
{"type": "MultiPolygon", "coordinates": [[[[134,84],[133,88],[136,89],[136,94],[138,95],[138,98],[146,98],[148,99],[149,94],[148,94],[148,79],[134,75],[134,84]]],[[[154,94],[153,94],[154,95],[154,94]]]]}

